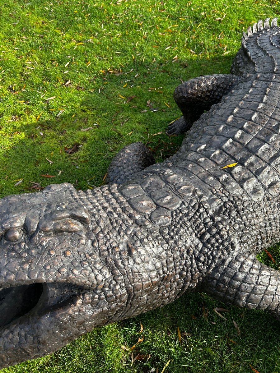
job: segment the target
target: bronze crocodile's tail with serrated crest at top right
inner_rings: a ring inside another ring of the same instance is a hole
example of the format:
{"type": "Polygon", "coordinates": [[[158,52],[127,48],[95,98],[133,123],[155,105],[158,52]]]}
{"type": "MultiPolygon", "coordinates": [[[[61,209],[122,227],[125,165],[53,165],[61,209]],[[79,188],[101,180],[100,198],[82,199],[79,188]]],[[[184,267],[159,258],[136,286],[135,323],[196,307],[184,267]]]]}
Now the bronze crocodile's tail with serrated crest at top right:
{"type": "MultiPolygon", "coordinates": [[[[231,73],[274,73],[280,67],[280,28],[277,18],[266,18],[243,32],[241,47],[231,66],[231,73]]],[[[279,69],[280,72],[280,69],[279,69]]]]}

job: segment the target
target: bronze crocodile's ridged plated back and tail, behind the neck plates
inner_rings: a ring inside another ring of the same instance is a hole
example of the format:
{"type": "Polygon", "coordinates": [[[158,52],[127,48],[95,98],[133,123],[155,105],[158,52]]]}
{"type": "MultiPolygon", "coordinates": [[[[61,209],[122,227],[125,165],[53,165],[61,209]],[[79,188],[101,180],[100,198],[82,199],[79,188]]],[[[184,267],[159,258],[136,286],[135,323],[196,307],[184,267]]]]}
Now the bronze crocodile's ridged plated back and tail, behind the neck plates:
{"type": "Polygon", "coordinates": [[[205,190],[245,192],[257,203],[279,198],[279,41],[276,19],[248,28],[233,68],[240,83],[193,124],[172,159],[205,190]]]}

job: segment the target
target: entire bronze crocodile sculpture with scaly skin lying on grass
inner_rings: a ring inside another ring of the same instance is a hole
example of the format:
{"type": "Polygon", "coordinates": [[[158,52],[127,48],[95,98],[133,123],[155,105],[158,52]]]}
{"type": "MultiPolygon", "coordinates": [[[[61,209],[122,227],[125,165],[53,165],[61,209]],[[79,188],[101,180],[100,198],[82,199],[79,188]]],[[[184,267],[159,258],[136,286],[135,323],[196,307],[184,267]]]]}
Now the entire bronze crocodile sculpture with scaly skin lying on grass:
{"type": "Polygon", "coordinates": [[[130,145],[109,185],[0,200],[1,368],[184,292],[280,319],[280,272],[255,258],[280,241],[279,47],[276,19],[259,21],[231,75],[176,88],[183,118],[167,132],[188,132],[165,162],[146,167],[149,153],[130,145]]]}

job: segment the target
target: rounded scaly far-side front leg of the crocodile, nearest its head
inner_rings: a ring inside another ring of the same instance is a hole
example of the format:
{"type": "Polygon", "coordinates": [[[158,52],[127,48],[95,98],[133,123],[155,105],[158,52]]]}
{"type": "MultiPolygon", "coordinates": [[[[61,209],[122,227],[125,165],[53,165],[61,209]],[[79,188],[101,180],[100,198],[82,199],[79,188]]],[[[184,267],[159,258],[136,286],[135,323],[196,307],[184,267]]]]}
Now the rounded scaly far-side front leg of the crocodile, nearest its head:
{"type": "Polygon", "coordinates": [[[137,172],[155,163],[152,152],[141,142],[122,148],[109,165],[106,183],[123,184],[133,179],[137,172]]]}

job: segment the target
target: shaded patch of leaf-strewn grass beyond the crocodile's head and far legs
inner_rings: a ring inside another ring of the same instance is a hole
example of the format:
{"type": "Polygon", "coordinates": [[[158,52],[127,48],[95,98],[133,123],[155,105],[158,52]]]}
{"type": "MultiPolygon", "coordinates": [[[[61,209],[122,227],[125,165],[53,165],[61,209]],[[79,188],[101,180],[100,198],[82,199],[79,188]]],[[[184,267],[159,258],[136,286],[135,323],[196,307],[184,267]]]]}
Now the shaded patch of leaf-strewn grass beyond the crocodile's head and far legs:
{"type": "Polygon", "coordinates": [[[108,84],[103,86],[100,94],[90,92],[86,86],[78,85],[76,90],[74,86],[65,87],[78,96],[71,110],[65,110],[60,116],[53,114],[49,120],[31,123],[21,119],[22,114],[9,124],[8,133],[1,131],[0,196],[29,191],[34,185],[30,181],[41,186],[67,181],[78,189],[100,185],[112,157],[134,141],[142,141],[154,150],[156,162],[171,156],[183,139],[183,136],[164,134],[168,123],[180,116],[172,98],[174,88],[180,84],[180,79],[214,71],[228,72],[230,63],[231,57],[227,55],[213,59],[193,57],[189,61],[166,62],[164,66],[139,64],[143,78],[141,82],[135,78],[137,84],[130,79],[132,88],[128,92],[130,97],[135,97],[129,103],[118,95],[119,87],[128,75],[107,73],[103,78],[108,84]],[[152,84],[161,87],[163,82],[162,90],[152,89],[152,84]],[[147,101],[157,111],[147,106],[147,101]],[[100,125],[96,126],[96,122],[100,125]],[[86,128],[90,129],[82,131],[86,128]],[[65,148],[74,144],[82,145],[79,151],[66,153],[65,148]],[[21,179],[21,184],[14,186],[21,179]]]}

